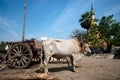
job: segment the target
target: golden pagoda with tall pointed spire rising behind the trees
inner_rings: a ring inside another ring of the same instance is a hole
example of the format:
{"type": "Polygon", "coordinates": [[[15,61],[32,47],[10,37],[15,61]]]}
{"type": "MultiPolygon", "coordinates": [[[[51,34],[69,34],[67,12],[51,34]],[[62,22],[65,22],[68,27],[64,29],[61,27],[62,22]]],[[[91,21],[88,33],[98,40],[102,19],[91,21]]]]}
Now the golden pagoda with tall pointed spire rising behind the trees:
{"type": "Polygon", "coordinates": [[[96,26],[95,22],[95,13],[93,4],[91,3],[91,24],[88,32],[88,39],[89,39],[89,45],[90,46],[107,46],[107,42],[102,39],[101,33],[98,31],[98,28],[96,26]]]}

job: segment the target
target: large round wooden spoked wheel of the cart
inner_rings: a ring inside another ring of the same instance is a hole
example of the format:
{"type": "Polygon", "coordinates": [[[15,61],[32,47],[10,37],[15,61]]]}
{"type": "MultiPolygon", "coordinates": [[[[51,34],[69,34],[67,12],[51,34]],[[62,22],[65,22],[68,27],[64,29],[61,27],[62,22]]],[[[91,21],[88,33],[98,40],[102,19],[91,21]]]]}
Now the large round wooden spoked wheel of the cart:
{"type": "Polygon", "coordinates": [[[11,48],[8,59],[12,68],[27,68],[32,61],[32,50],[26,43],[17,43],[11,48]]]}

